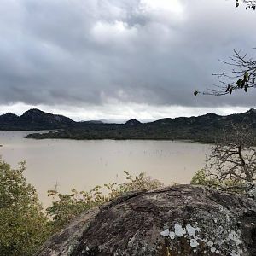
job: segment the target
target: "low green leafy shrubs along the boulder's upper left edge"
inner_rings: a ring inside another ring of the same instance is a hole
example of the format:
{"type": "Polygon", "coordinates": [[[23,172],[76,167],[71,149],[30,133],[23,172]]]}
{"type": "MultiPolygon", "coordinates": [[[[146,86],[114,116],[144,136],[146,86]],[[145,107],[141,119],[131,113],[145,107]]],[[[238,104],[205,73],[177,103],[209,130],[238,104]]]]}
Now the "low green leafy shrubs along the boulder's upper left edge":
{"type": "Polygon", "coordinates": [[[53,220],[55,230],[60,230],[72,218],[85,210],[102,205],[125,192],[137,189],[152,190],[163,185],[158,180],[147,177],[145,173],[132,177],[129,172],[125,171],[125,175],[127,180],[125,183],[104,184],[102,187],[96,186],[90,192],[78,192],[76,189],[73,189],[70,195],[62,195],[55,190],[50,190],[49,196],[52,196],[55,201],[46,211],[53,220]]]}

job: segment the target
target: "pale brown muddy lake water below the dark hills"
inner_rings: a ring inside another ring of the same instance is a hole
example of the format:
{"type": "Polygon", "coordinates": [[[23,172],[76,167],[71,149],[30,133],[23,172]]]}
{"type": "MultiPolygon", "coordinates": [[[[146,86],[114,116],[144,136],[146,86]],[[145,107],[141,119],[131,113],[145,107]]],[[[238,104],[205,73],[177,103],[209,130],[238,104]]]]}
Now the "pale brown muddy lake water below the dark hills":
{"type": "Polygon", "coordinates": [[[47,190],[90,190],[98,184],[125,181],[124,170],[168,183],[189,183],[205,165],[207,144],[144,140],[33,140],[30,131],[0,131],[0,155],[16,167],[26,160],[26,180],[38,190],[44,207],[47,190]]]}

